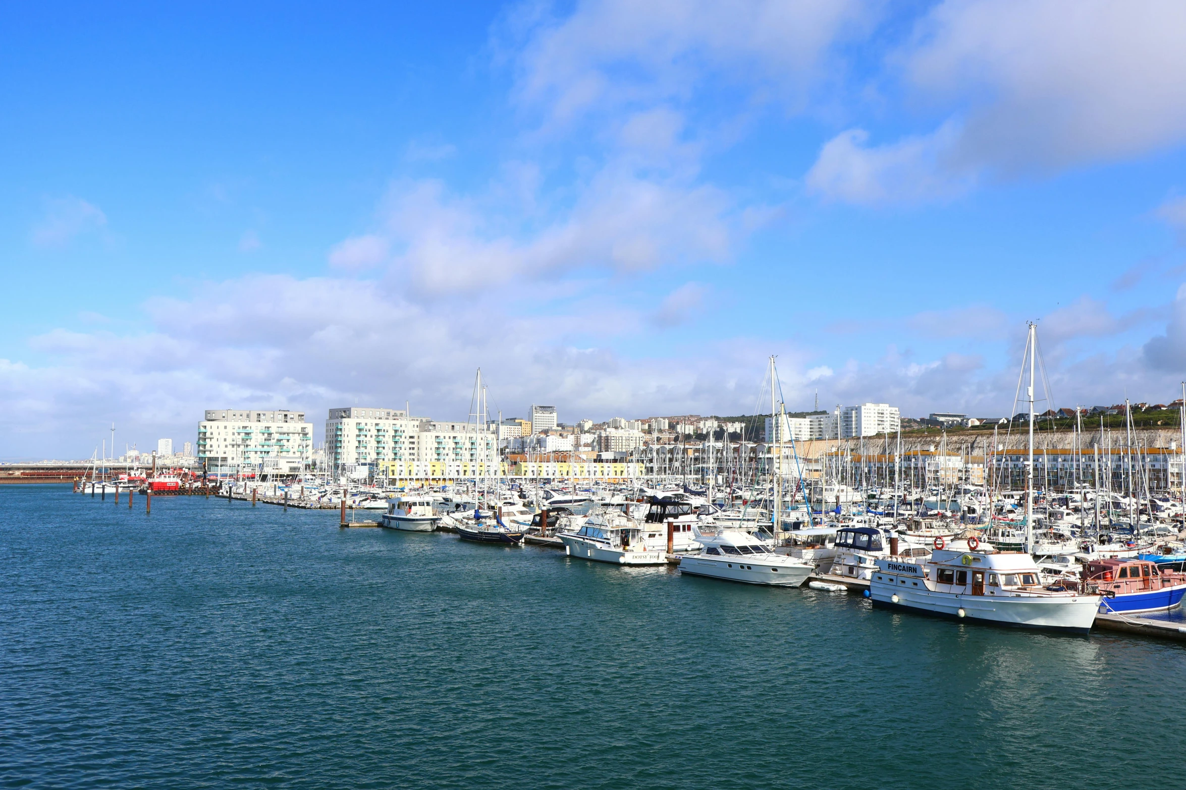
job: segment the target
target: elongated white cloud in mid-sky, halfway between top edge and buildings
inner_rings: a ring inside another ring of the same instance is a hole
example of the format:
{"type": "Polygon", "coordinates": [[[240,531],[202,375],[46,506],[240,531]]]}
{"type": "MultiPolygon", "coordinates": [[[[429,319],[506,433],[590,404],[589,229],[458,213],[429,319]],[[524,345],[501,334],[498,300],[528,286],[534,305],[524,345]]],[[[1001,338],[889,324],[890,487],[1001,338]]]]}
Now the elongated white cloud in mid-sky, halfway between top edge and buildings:
{"type": "Polygon", "coordinates": [[[623,167],[597,172],[550,223],[484,199],[451,195],[439,181],[393,187],[376,231],[395,250],[393,272],[440,295],[582,268],[637,272],[723,262],[739,233],[722,192],[623,167]]]}

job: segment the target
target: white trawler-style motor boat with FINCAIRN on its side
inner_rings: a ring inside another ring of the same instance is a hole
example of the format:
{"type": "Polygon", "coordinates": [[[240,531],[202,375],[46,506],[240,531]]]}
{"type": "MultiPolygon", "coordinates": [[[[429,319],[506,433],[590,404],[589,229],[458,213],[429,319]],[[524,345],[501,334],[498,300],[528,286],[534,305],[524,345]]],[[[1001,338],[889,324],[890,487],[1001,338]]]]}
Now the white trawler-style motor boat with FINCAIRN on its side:
{"type": "Polygon", "coordinates": [[[925,563],[876,560],[869,582],[873,603],[1000,625],[1088,632],[1099,596],[1047,590],[1029,554],[936,550],[925,563]]]}

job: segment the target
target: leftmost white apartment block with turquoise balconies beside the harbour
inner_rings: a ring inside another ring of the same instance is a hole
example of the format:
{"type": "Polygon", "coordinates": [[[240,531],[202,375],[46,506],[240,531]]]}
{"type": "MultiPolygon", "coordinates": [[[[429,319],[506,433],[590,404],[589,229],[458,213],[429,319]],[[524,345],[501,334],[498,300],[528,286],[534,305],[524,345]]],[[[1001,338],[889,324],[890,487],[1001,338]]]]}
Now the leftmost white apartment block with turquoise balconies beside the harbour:
{"type": "Polygon", "coordinates": [[[312,455],[313,424],[302,411],[208,409],[198,423],[198,461],[212,473],[294,475],[312,455]]]}

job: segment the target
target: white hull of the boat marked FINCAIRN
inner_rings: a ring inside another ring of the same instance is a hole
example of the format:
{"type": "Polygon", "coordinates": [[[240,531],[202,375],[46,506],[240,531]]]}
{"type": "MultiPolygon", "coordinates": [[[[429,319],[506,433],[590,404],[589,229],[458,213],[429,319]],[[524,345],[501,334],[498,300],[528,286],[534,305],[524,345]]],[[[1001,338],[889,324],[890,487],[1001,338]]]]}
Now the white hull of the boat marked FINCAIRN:
{"type": "Polygon", "coordinates": [[[999,625],[1088,632],[1099,596],[973,596],[929,590],[923,579],[878,571],[869,582],[873,603],[999,625]]]}

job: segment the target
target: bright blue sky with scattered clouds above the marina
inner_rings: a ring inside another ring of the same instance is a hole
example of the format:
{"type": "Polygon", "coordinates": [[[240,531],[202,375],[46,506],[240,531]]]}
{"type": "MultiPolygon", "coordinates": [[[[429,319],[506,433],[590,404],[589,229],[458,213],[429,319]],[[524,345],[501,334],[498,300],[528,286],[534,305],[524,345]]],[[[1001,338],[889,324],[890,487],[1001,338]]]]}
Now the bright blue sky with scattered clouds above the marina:
{"type": "MultiPolygon", "coordinates": [[[[1186,379],[1186,4],[0,6],[0,460],[1186,379]]],[[[1039,393],[1044,399],[1045,392],[1039,393]]]]}

